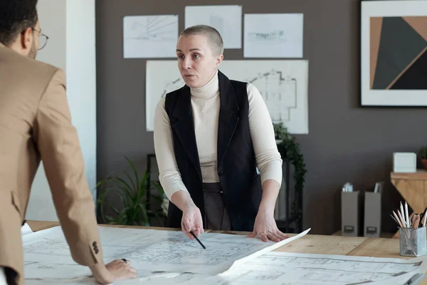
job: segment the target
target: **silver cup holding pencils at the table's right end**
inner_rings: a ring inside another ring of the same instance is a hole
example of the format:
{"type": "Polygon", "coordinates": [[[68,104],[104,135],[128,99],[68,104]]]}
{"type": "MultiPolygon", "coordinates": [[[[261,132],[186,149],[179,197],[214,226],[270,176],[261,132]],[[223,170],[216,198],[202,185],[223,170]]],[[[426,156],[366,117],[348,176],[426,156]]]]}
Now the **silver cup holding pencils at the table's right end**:
{"type": "Polygon", "coordinates": [[[426,255],[426,227],[418,227],[418,229],[399,227],[399,244],[402,257],[421,257],[426,255]]]}

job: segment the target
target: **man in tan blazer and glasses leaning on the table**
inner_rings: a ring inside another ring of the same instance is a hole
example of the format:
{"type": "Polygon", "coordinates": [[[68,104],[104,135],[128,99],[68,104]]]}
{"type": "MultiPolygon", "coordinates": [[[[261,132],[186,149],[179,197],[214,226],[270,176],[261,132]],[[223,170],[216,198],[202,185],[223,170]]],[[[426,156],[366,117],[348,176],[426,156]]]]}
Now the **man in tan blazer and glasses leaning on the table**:
{"type": "Polygon", "coordinates": [[[65,75],[34,60],[40,41],[47,40],[36,4],[0,0],[0,284],[24,284],[21,224],[40,160],[73,259],[89,266],[101,284],[135,278],[126,259],[102,261],[65,75]]]}

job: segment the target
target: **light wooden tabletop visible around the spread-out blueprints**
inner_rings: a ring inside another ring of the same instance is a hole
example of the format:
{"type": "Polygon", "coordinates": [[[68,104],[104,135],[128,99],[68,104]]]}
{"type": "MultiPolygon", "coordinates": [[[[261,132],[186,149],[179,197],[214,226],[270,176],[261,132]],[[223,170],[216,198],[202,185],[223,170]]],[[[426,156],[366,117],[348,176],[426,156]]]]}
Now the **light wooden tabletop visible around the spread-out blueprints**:
{"type": "MultiPolygon", "coordinates": [[[[41,229],[55,227],[58,222],[27,221],[28,225],[36,232],[41,229]]],[[[112,226],[100,224],[107,227],[130,227],[147,229],[147,227],[134,226],[112,226]]],[[[149,227],[149,229],[167,229],[149,227]]],[[[174,229],[179,230],[179,229],[174,229]]],[[[206,231],[209,232],[209,231],[206,231]]],[[[246,232],[221,232],[225,234],[248,234],[246,232]]],[[[293,236],[295,234],[289,234],[293,236]]],[[[399,259],[411,259],[411,257],[401,257],[399,255],[399,239],[369,238],[369,237],[341,237],[326,236],[318,234],[306,234],[304,237],[285,244],[283,247],[275,249],[278,252],[294,252],[302,254],[338,254],[358,257],[388,257],[399,259]]],[[[427,285],[427,278],[419,283],[427,285]]]]}

